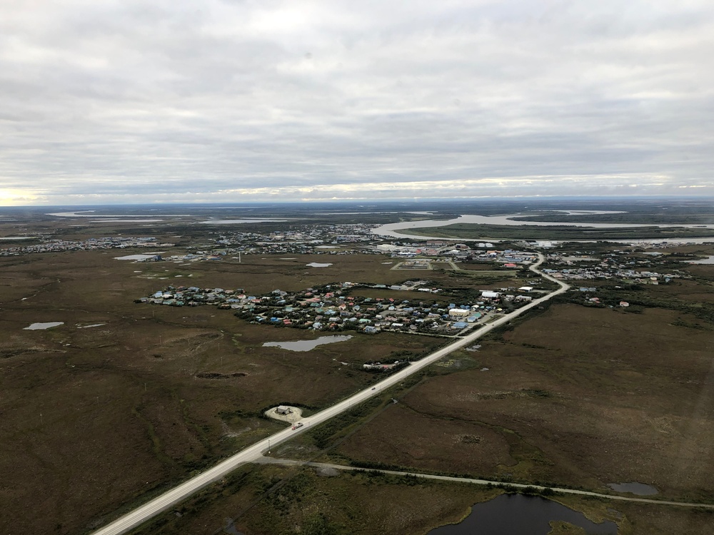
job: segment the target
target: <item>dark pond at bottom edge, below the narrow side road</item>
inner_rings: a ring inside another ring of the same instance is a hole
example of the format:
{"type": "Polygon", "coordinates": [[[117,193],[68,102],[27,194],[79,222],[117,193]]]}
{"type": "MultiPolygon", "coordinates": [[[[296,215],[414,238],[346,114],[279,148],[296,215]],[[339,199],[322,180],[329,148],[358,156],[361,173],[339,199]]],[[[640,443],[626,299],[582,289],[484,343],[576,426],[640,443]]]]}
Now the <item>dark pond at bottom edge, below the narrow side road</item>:
{"type": "Polygon", "coordinates": [[[595,524],[585,515],[539,496],[501,494],[491,501],[476,504],[461,524],[441,526],[429,535],[546,535],[551,520],[580,526],[589,535],[617,535],[618,526],[606,520],[595,524]]]}

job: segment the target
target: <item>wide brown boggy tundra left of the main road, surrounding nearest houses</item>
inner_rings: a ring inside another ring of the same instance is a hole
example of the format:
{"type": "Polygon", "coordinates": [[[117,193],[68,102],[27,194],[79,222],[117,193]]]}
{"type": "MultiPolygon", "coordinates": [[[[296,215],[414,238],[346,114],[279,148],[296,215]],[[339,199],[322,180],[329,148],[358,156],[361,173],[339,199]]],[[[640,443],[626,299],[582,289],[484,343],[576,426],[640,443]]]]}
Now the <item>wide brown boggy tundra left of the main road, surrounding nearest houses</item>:
{"type": "Polygon", "coordinates": [[[170,283],[258,293],[361,271],[374,282],[403,280],[378,255],[335,255],[328,271],[304,266],[326,255],[301,258],[299,270],[288,263],[296,261],[265,256],[230,265],[115,260],[142,252],[0,258],[4,532],[72,534],[99,526],[119,507],[281,429],[258,417],[261,409],[291,402],[316,410],[373,382],[359,369],[366,360],[419,355],[443,343],[351,333],[348,342],[290,352],[262,343],[325,333],[248,325],[211,306],[133,302],[170,283]],[[64,325],[24,330],[52,321],[64,325]]]}

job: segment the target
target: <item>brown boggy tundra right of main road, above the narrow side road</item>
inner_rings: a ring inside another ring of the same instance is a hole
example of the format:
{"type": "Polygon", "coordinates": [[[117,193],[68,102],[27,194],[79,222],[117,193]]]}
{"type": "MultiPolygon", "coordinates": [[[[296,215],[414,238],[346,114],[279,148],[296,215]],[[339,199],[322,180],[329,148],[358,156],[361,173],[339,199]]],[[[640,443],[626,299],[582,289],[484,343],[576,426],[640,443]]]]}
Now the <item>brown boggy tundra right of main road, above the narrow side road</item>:
{"type": "Polygon", "coordinates": [[[553,305],[483,342],[477,367],[422,382],[336,452],[587,489],[640,481],[670,499],[714,501],[714,340],[685,325],[709,324],[665,309],[553,305]]]}

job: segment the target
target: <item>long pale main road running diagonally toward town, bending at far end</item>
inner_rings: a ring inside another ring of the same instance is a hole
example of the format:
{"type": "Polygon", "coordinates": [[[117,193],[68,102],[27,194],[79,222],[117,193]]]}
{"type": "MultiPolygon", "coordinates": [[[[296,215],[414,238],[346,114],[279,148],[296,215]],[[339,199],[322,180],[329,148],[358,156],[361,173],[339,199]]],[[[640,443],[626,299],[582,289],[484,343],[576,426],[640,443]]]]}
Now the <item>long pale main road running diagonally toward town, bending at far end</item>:
{"type": "Polygon", "coordinates": [[[285,442],[286,440],[295,437],[297,434],[305,432],[306,430],[311,429],[311,427],[326,422],[328,419],[331,419],[332,417],[335,417],[336,415],[345,412],[346,410],[350,409],[354,404],[361,403],[366,399],[375,396],[383,389],[402,382],[411,374],[418,372],[424,367],[427,367],[433,362],[436,362],[437,360],[441,359],[442,357],[448,355],[449,353],[455,350],[460,349],[461,347],[470,345],[474,340],[477,340],[478,338],[482,337],[487,332],[490,332],[499,325],[503,325],[504,323],[512,320],[514,317],[523,314],[523,312],[526,312],[526,310],[529,310],[533,307],[537,307],[541,303],[549,300],[554,295],[558,295],[560,293],[565,292],[565,290],[568,290],[568,285],[566,285],[565,282],[554,279],[553,277],[545,275],[544,273],[538,270],[538,266],[543,263],[543,260],[545,260],[545,258],[543,257],[543,255],[539,254],[538,262],[531,265],[531,270],[549,280],[552,280],[553,282],[557,282],[560,287],[558,288],[558,290],[555,290],[555,292],[533,300],[528,305],[521,307],[518,310],[511,312],[510,314],[504,315],[503,317],[499,317],[497,320],[494,320],[493,322],[488,323],[488,325],[481,327],[481,329],[476,330],[476,332],[472,332],[470,335],[460,338],[456,340],[456,342],[453,342],[447,345],[446,347],[442,347],[440,350],[436,350],[431,355],[428,355],[428,357],[423,357],[423,359],[418,360],[417,362],[412,362],[411,365],[407,366],[406,368],[403,368],[402,370],[391,374],[383,381],[378,382],[376,385],[374,385],[374,387],[369,387],[367,389],[362,390],[361,392],[357,392],[353,396],[334,404],[332,407],[329,407],[328,409],[325,409],[322,412],[318,412],[317,414],[313,414],[311,417],[303,418],[301,420],[301,422],[303,422],[304,424],[303,427],[294,431],[293,429],[288,427],[287,429],[281,432],[271,435],[271,437],[268,437],[267,439],[263,439],[260,442],[256,442],[256,444],[253,444],[251,447],[243,449],[241,452],[238,452],[237,454],[233,455],[233,457],[229,457],[225,461],[216,464],[215,467],[208,469],[205,472],[201,472],[201,474],[198,474],[196,477],[188,479],[188,481],[181,483],[180,485],[174,487],[174,489],[171,489],[170,491],[161,494],[161,496],[158,496],[147,502],[146,504],[137,507],[136,509],[134,509],[134,511],[131,511],[125,514],[124,516],[121,516],[119,519],[116,519],[115,521],[111,522],[111,524],[104,526],[104,528],[99,529],[98,531],[95,531],[94,535],[119,535],[126,533],[126,531],[129,531],[130,529],[139,526],[139,524],[151,519],[153,516],[156,516],[161,511],[169,509],[169,507],[177,504],[179,501],[182,501],[188,496],[191,496],[191,494],[198,491],[199,489],[202,489],[204,486],[213,483],[213,481],[221,479],[221,477],[225,476],[230,472],[233,472],[233,470],[241,466],[241,464],[245,464],[246,462],[251,462],[255,459],[258,459],[258,457],[261,457],[263,455],[263,452],[268,451],[268,448],[276,447],[278,444],[281,444],[281,442],[285,442]]]}

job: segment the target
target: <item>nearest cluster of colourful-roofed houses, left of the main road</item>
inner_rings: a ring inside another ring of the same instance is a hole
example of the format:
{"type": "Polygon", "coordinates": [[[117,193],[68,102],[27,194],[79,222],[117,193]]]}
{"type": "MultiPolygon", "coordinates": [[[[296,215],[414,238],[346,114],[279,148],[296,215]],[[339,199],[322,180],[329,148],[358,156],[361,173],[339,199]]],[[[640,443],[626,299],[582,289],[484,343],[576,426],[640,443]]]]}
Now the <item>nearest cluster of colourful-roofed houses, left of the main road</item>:
{"type": "Polygon", "coordinates": [[[388,290],[412,290],[438,295],[438,288],[424,287],[425,281],[407,281],[402,285],[367,285],[341,282],[300,292],[273,290],[266,295],[249,295],[243,289],[173,287],[141,297],[136,302],[154,305],[216,305],[233,310],[236,316],[253,323],[281,325],[320,331],[358,330],[414,332],[456,335],[483,322],[487,315],[503,312],[530,301],[532,287],[521,287],[518,295],[483,290],[476,302],[438,302],[433,297],[398,300],[394,297],[350,295],[352,290],[369,287],[388,290]]]}

